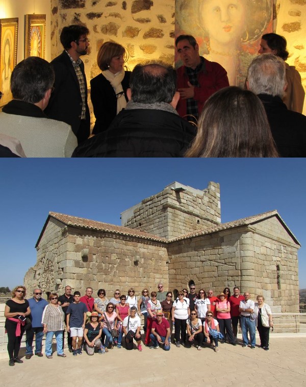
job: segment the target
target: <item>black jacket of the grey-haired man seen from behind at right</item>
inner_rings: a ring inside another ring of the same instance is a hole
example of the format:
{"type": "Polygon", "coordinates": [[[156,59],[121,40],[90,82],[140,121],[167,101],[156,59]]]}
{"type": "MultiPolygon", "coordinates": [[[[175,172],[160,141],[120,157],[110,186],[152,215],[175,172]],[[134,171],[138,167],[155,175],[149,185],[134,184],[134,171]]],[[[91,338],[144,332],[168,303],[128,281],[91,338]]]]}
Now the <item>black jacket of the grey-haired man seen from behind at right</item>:
{"type": "Polygon", "coordinates": [[[259,94],[280,157],[306,157],[306,117],[288,110],[280,97],[259,94]]]}

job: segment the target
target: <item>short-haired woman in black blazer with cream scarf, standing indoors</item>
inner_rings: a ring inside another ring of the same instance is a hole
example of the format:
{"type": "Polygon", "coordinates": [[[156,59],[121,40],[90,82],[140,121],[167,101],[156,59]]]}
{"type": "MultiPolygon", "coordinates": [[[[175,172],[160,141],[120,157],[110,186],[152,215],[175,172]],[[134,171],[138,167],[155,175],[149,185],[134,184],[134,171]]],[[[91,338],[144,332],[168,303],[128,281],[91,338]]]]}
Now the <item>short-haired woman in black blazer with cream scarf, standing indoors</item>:
{"type": "Polygon", "coordinates": [[[126,106],[126,89],[131,76],[131,71],[124,71],[126,57],[125,48],[120,44],[106,42],[99,48],[97,65],[101,74],[90,81],[90,97],[96,118],[94,135],[106,131],[126,106]]]}

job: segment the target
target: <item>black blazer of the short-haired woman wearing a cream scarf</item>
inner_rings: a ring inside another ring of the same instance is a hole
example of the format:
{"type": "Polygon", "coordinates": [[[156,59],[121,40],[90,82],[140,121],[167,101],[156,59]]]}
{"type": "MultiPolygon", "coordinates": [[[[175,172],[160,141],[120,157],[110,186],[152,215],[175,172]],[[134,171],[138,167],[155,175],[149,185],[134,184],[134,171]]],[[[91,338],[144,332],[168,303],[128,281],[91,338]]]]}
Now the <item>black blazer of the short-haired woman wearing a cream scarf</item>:
{"type": "MultiPolygon", "coordinates": [[[[125,71],[121,82],[125,100],[127,101],[126,89],[130,87],[131,71],[125,71]]],[[[90,81],[90,98],[96,122],[93,127],[93,134],[107,130],[117,115],[117,97],[111,83],[104,75],[99,74],[90,81]]],[[[123,98],[123,95],[120,97],[123,98]]]]}

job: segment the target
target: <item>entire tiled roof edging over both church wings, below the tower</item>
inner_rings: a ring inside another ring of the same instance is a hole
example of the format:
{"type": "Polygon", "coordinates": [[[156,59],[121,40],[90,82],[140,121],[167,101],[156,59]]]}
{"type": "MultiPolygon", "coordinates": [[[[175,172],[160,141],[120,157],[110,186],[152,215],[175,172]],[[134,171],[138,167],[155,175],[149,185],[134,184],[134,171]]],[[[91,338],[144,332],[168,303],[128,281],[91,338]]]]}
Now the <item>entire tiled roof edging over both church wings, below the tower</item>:
{"type": "Polygon", "coordinates": [[[201,230],[192,231],[192,233],[181,235],[180,237],[172,238],[169,240],[167,240],[165,238],[158,237],[158,236],[153,235],[153,234],[145,233],[144,231],[140,231],[138,229],[116,226],[114,224],[97,222],[95,220],[79,218],[77,216],[65,215],[65,214],[60,214],[57,212],[49,212],[49,216],[44,224],[44,227],[41,231],[41,234],[38,238],[38,241],[37,241],[35,247],[37,247],[37,245],[39,244],[40,238],[42,237],[42,235],[44,233],[44,229],[45,229],[50,217],[61,221],[62,223],[66,224],[67,226],[87,228],[87,229],[92,229],[92,230],[97,230],[97,231],[104,231],[107,233],[120,234],[120,235],[129,236],[129,237],[138,237],[138,238],[162,242],[162,243],[171,243],[171,242],[175,242],[175,241],[181,241],[184,239],[195,238],[195,237],[199,237],[202,235],[216,233],[216,232],[222,231],[222,230],[251,225],[251,224],[260,222],[262,220],[271,218],[273,216],[276,216],[278,218],[278,220],[283,224],[284,228],[287,230],[288,234],[294,239],[294,241],[297,244],[300,245],[298,240],[295,238],[295,236],[290,231],[289,227],[286,225],[286,223],[281,218],[281,216],[279,216],[277,211],[274,210],[274,211],[265,212],[263,214],[258,214],[258,215],[254,215],[254,216],[249,216],[247,218],[234,220],[232,222],[221,223],[219,225],[213,225],[211,227],[203,228],[201,230]]]}

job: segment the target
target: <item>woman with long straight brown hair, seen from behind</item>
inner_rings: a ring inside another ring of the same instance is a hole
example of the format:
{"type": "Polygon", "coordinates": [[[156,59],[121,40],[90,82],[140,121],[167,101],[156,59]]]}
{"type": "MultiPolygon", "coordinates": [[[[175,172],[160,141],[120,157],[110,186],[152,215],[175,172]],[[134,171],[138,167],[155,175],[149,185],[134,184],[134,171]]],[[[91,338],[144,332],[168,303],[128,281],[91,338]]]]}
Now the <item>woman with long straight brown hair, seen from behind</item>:
{"type": "Polygon", "coordinates": [[[225,87],[206,102],[186,157],[278,157],[265,108],[257,95],[225,87]]]}

